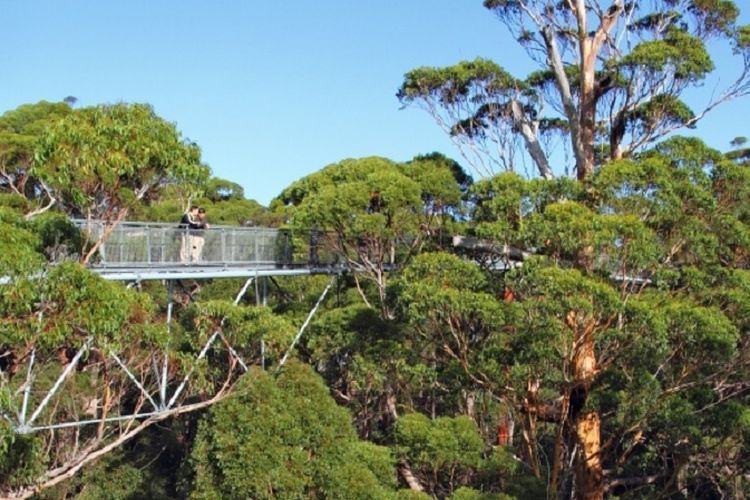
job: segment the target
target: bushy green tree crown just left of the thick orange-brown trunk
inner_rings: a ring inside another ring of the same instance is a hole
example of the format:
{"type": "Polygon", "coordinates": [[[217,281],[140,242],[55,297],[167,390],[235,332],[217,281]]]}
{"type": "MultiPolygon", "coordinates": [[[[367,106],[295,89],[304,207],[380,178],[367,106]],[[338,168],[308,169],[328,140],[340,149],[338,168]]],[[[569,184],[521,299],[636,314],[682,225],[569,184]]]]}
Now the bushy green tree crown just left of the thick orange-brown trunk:
{"type": "Polygon", "coordinates": [[[478,393],[497,375],[506,342],[504,304],[493,292],[478,266],[443,252],[418,256],[399,277],[394,296],[411,363],[429,374],[412,388],[421,393],[420,409],[478,416],[478,393]]]}

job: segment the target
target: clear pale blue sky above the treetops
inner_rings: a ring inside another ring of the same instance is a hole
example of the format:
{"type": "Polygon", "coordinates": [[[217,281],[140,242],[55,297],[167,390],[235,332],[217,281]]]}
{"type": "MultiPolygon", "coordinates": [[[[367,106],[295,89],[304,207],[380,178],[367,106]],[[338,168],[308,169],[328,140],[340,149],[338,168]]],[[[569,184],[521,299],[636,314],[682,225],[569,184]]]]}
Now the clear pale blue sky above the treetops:
{"type": "MultiPolygon", "coordinates": [[[[519,76],[529,69],[481,0],[0,0],[0,9],[0,112],[69,95],[78,106],[150,103],[201,146],[214,175],[263,204],[344,158],[459,159],[427,114],[399,109],[408,70],[477,56],[519,76]]],[[[738,69],[727,61],[716,57],[722,81],[738,69]]],[[[750,136],[749,117],[745,98],[689,132],[727,149],[750,136]]]]}

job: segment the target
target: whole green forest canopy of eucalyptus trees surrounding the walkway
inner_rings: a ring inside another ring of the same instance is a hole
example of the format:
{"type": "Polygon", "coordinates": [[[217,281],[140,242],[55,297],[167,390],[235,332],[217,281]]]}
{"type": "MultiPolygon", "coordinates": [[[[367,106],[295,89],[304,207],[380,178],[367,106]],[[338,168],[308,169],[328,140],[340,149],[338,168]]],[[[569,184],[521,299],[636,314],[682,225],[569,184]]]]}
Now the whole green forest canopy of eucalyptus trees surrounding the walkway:
{"type": "Polygon", "coordinates": [[[737,5],[484,5],[538,70],[422,67],[398,94],[460,161],[342,159],[269,207],[147,104],[0,116],[0,496],[750,492],[750,153],[675,133],[750,90],[737,5]],[[694,109],[714,41],[739,75],[694,109]],[[92,269],[118,224],[191,205],[201,231],[278,228],[310,274],[92,269]]]}

